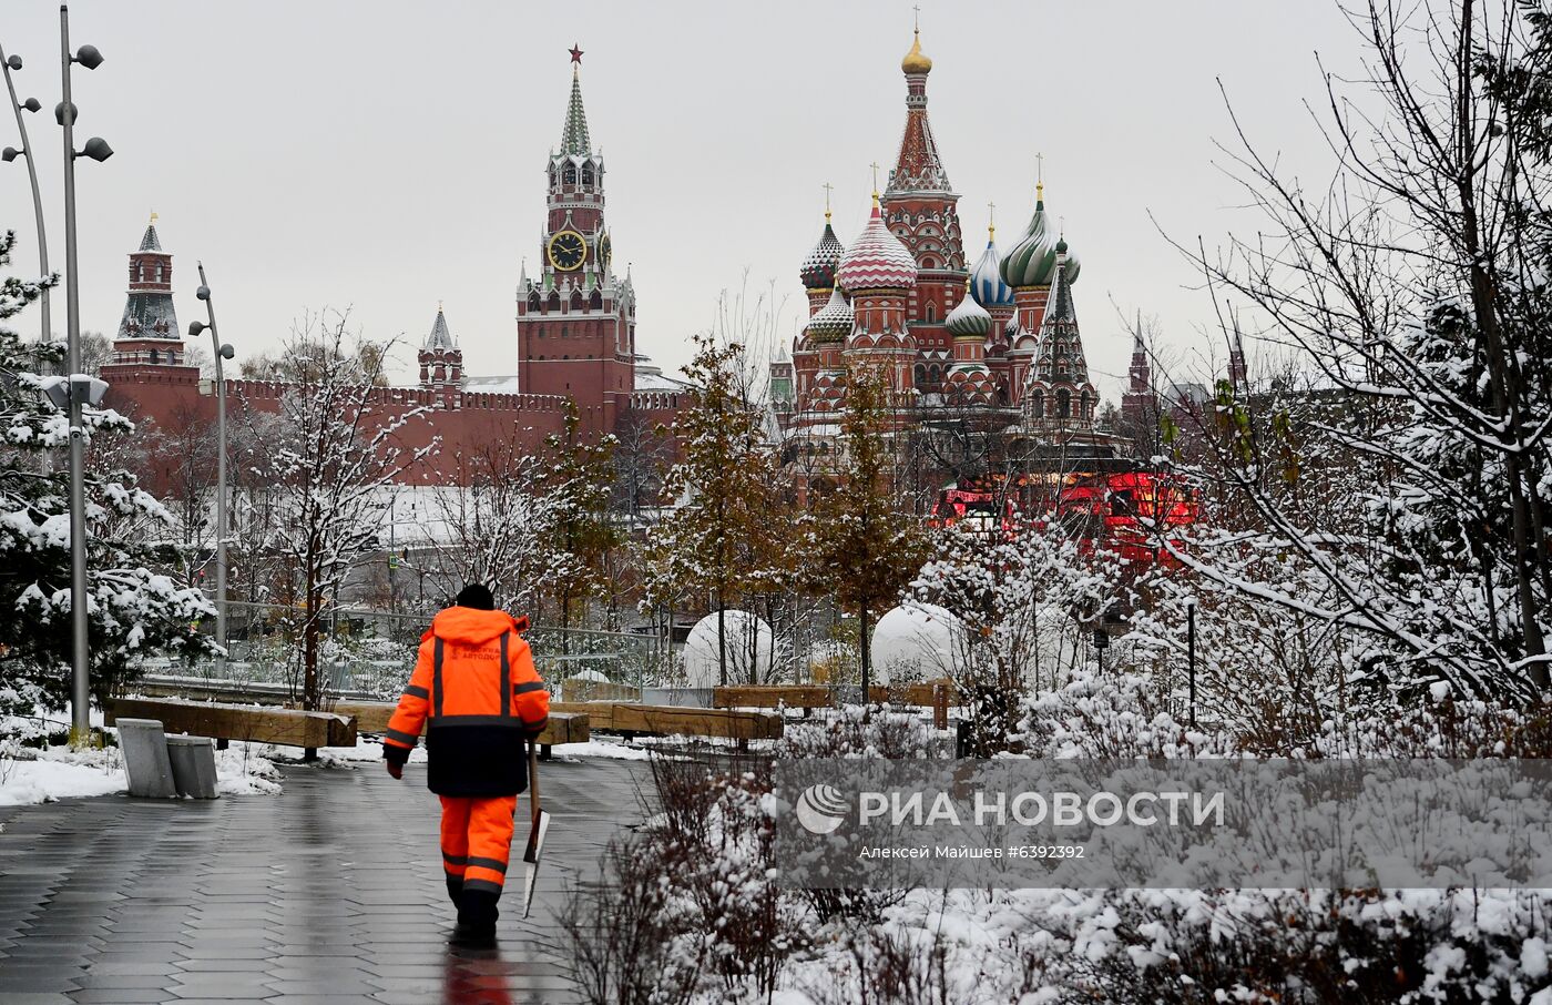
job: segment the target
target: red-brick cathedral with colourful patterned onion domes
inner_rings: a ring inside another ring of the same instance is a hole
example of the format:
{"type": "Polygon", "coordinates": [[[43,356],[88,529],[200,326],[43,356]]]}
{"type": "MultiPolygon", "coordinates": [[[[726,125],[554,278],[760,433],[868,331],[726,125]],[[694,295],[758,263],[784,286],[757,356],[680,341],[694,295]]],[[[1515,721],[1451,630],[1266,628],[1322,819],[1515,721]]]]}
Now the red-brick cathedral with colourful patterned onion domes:
{"type": "Polygon", "coordinates": [[[972,264],[927,113],[933,61],[920,31],[900,70],[905,130],[885,191],[850,242],[826,213],[799,269],[809,322],[790,360],[771,367],[782,433],[833,430],[847,368],[871,365],[888,374],[899,427],[968,412],[1009,436],[1093,438],[1099,396],[1072,300],[1079,258],[1052,225],[1043,185],[1012,250],[999,252],[989,227],[972,264]]]}

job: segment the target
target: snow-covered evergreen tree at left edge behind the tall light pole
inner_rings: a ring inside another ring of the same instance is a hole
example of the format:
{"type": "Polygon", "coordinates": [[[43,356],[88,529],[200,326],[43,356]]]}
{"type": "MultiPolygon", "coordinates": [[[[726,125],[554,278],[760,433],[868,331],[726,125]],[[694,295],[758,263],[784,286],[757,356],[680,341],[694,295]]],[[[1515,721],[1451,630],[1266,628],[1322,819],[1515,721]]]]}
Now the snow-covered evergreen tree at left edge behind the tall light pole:
{"type": "MultiPolygon", "coordinates": [[[[16,235],[0,238],[9,264],[16,235]]],[[[0,284],[0,679],[12,701],[62,707],[70,691],[70,491],[64,464],[45,450],[70,441],[68,416],[40,393],[47,365],[64,346],[23,343],[5,320],[33,303],[54,276],[0,284]]],[[[106,409],[87,409],[85,433],[127,430],[106,409]]],[[[87,471],[87,601],[92,691],[101,701],[151,652],[210,652],[192,624],[214,609],[163,570],[177,551],[163,544],[171,516],[123,471],[87,471]]],[[[3,697],[0,697],[3,701],[3,697]]]]}

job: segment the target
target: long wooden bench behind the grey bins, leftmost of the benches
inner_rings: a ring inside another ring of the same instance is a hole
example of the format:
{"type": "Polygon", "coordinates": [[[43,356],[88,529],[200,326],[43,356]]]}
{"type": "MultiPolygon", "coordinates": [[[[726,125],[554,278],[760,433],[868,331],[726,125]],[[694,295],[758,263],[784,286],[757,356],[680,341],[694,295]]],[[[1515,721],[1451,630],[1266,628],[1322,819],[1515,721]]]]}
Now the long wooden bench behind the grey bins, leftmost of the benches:
{"type": "Polygon", "coordinates": [[[222,741],[276,744],[281,747],[354,747],[355,721],[332,711],[222,705],[175,697],[115,697],[104,708],[104,722],[161,719],[168,733],[213,736],[222,741]]]}

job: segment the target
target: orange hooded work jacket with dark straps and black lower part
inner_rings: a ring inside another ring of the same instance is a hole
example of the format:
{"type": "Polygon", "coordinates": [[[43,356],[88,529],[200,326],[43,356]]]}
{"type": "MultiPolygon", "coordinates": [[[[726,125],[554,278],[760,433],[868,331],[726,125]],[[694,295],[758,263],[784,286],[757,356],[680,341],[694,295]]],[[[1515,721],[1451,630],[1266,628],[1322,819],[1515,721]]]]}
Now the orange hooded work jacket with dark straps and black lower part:
{"type": "Polygon", "coordinates": [[[525,738],[549,718],[549,694],[523,642],[528,620],[449,607],[421,637],[421,657],[383,735],[402,763],[425,725],[427,786],[439,795],[514,795],[528,788],[525,738]]]}

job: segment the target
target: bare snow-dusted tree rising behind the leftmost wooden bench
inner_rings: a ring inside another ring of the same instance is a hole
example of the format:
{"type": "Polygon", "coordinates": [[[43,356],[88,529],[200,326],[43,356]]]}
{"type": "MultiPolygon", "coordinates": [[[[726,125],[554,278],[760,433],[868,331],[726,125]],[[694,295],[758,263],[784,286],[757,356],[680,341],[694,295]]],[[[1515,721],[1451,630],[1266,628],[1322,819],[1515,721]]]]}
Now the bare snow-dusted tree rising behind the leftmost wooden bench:
{"type": "Polygon", "coordinates": [[[433,447],[405,450],[399,430],[427,409],[379,405],[386,353],[349,336],[349,317],[309,317],[281,349],[275,376],[286,384],[275,415],[242,402],[264,436],[248,440],[244,468],[265,486],[267,520],[250,547],[279,559],[279,596],[296,615],[304,708],[318,708],[326,607],[352,562],[380,547],[391,486],[433,447]]]}

